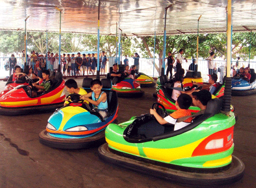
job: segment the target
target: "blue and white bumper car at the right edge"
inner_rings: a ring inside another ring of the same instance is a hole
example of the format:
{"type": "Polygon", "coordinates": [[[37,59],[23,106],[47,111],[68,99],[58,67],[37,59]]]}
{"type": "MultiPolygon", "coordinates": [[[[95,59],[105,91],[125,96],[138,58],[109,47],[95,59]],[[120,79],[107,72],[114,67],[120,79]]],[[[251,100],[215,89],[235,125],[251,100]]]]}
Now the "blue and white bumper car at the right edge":
{"type": "Polygon", "coordinates": [[[231,95],[253,95],[256,94],[256,73],[250,69],[251,79],[233,77],[231,80],[231,95]]]}

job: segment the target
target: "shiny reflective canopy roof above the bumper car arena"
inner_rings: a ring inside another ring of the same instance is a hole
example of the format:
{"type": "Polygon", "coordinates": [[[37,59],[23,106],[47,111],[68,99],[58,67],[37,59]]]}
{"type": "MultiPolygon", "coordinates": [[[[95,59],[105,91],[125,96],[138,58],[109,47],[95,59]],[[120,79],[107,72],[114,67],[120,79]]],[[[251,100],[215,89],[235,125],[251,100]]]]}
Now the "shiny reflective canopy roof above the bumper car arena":
{"type": "MultiPolygon", "coordinates": [[[[116,24],[126,36],[226,31],[227,0],[100,0],[100,35],[115,35],[116,24]]],[[[1,0],[0,29],[97,34],[98,0],[1,0]]],[[[232,0],[233,31],[256,29],[255,0],[232,0]]]]}

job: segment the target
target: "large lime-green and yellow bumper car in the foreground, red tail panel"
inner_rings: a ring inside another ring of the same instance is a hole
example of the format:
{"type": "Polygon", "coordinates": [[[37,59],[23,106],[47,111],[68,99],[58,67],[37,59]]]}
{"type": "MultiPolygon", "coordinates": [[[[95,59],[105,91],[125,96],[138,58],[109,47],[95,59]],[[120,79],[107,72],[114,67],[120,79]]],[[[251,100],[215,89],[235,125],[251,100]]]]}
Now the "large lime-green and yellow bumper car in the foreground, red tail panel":
{"type": "MultiPolygon", "coordinates": [[[[162,117],[166,110],[157,103],[162,117]]],[[[132,117],[105,131],[107,143],[98,149],[106,163],[190,187],[230,185],[243,176],[244,164],[232,155],[234,113],[220,113],[221,100],[210,100],[205,113],[174,131],[150,114],[132,117]],[[144,130],[144,131],[143,131],[144,130]],[[142,134],[143,132],[143,134],[142,134]]]]}

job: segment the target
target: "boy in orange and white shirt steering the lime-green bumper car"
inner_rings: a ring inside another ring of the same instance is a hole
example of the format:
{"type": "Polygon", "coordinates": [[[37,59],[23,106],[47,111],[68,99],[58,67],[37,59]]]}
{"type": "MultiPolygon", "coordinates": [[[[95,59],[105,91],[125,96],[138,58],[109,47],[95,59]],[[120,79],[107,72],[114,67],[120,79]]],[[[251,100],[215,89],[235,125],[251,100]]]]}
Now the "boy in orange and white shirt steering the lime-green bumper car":
{"type": "Polygon", "coordinates": [[[189,125],[192,121],[192,117],[189,117],[183,122],[176,123],[177,119],[180,117],[185,117],[188,115],[191,115],[190,110],[188,108],[192,104],[192,98],[185,94],[182,93],[178,99],[176,100],[175,106],[178,109],[174,113],[171,113],[170,115],[166,116],[165,118],[162,118],[157,112],[156,109],[150,109],[150,114],[153,114],[158,121],[159,124],[164,125],[167,123],[173,124],[174,125],[174,131],[181,129],[185,127],[186,125],[189,125]]]}

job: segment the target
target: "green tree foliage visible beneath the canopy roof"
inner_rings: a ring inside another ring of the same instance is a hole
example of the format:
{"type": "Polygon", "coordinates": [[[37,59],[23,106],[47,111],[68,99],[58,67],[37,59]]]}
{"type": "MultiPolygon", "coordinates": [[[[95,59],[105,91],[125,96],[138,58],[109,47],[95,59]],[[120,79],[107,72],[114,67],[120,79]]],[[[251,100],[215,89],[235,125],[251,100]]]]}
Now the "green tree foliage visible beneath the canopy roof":
{"type": "MultiPolygon", "coordinates": [[[[3,53],[21,52],[25,48],[24,31],[0,31],[0,51],[3,53]]],[[[241,56],[243,60],[256,56],[256,35],[252,33],[233,33],[232,36],[232,58],[241,56]],[[250,50],[251,44],[251,50],[250,50]]],[[[48,50],[58,52],[59,34],[48,32],[48,50]]],[[[100,36],[100,51],[104,50],[107,56],[116,56],[115,36],[100,36]]],[[[125,37],[122,36],[122,54],[130,57],[138,52],[141,57],[154,56],[155,37],[125,37]]],[[[97,35],[83,35],[73,33],[61,34],[61,53],[75,51],[97,51],[97,35]]],[[[39,53],[46,52],[46,32],[28,32],[28,51],[35,50],[39,53]]],[[[176,35],[166,37],[166,56],[169,51],[176,56],[180,49],[185,50],[186,58],[196,57],[197,35],[176,35]]],[[[214,51],[216,56],[226,55],[226,34],[200,34],[199,35],[199,57],[207,58],[214,51]]],[[[163,36],[156,36],[155,56],[162,58],[163,36]]]]}

